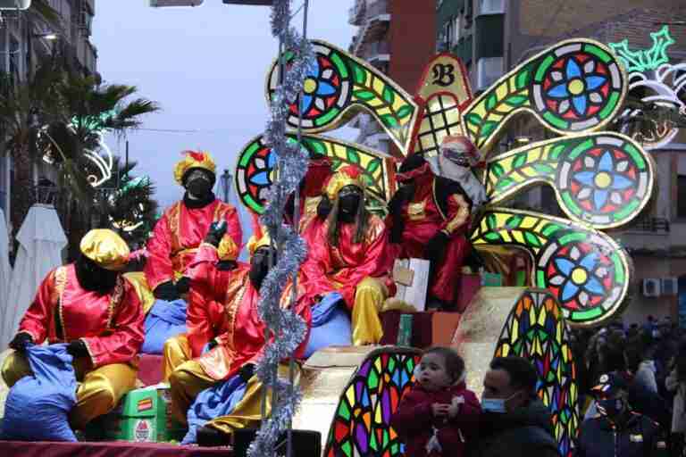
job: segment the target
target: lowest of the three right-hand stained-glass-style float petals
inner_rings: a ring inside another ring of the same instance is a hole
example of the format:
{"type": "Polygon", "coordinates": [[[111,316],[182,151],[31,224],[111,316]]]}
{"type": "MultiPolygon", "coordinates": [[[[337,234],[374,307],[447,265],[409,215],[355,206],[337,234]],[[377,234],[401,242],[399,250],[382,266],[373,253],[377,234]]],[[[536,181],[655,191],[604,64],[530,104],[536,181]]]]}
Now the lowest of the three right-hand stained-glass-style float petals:
{"type": "Polygon", "coordinates": [[[621,311],[632,273],[628,253],[590,226],[536,212],[490,208],[472,243],[515,245],[532,253],[534,283],[562,306],[565,319],[593,326],[621,311]]]}

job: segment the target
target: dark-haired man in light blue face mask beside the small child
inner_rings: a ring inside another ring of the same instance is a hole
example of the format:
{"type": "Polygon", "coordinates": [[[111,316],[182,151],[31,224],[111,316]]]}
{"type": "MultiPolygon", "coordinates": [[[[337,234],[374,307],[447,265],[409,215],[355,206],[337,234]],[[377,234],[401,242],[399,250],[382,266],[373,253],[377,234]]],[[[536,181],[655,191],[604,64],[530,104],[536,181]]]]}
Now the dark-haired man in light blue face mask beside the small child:
{"type": "Polygon", "coordinates": [[[483,379],[480,437],[473,457],[558,457],[548,408],[536,396],[536,370],[521,357],[497,357],[483,379]]]}

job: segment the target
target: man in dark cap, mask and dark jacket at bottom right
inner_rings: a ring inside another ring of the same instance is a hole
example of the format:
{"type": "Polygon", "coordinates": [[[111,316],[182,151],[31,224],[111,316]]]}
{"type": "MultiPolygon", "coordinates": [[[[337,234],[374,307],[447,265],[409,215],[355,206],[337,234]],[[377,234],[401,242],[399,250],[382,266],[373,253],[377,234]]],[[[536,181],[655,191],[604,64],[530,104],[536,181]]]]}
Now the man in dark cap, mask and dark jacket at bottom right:
{"type": "Polygon", "coordinates": [[[657,422],[632,411],[629,386],[616,373],[600,376],[591,388],[598,413],[581,424],[577,457],[663,457],[666,441],[657,422]]]}

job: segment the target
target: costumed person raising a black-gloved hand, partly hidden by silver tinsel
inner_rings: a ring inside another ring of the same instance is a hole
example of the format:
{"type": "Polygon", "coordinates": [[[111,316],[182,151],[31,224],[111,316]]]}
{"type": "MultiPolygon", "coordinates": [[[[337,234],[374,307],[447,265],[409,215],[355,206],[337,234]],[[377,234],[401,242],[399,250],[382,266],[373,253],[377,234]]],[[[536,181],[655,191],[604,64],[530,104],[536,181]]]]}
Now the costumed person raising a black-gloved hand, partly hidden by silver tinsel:
{"type": "MultiPolygon", "coordinates": [[[[213,225],[191,264],[192,278],[188,312],[188,335],[171,338],[164,346],[164,370],[169,373],[171,411],[186,423],[187,411],[197,395],[224,380],[240,376],[247,383],[245,394],[230,416],[212,420],[207,427],[230,434],[236,428],[256,427],[261,420],[262,384],[253,375],[265,347],[264,323],[257,312],[259,291],[270,269],[268,234],[251,238],[250,265],[230,268],[220,261],[217,245],[225,228],[213,225]],[[203,353],[204,346],[206,347],[203,353]]],[[[281,303],[289,306],[291,286],[281,303]]],[[[311,306],[318,297],[298,281],[295,312],[309,328],[311,306]]],[[[307,336],[294,357],[301,358],[307,336]]]]}

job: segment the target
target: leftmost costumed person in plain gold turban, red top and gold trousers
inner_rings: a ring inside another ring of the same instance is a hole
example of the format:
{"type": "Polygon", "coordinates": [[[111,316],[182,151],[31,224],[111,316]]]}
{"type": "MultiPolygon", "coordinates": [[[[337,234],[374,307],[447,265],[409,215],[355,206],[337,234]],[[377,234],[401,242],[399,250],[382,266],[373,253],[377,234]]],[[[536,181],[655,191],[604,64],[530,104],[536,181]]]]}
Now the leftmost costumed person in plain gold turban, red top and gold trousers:
{"type": "Polygon", "coordinates": [[[22,353],[27,345],[68,343],[79,381],[70,417],[75,429],[111,411],[135,387],[144,320],[135,288],[121,275],[130,255],[124,240],[97,228],[81,239],[80,251],[75,263],[50,271],[38,287],[2,368],[13,386],[31,374],[22,353]]]}

